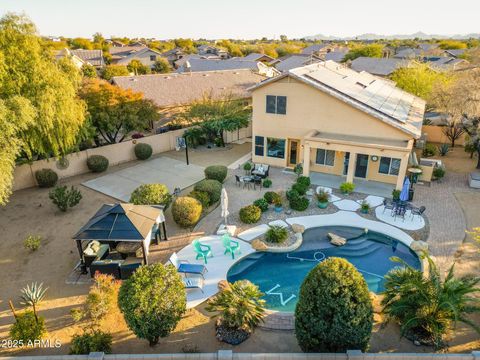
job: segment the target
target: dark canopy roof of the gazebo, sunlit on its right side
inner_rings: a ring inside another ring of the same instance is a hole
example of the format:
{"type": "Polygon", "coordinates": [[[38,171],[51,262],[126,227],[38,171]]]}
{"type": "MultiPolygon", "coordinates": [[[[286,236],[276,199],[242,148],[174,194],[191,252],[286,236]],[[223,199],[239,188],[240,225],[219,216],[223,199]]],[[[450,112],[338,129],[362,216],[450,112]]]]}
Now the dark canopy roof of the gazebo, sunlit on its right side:
{"type": "Polygon", "coordinates": [[[143,241],[163,210],[147,205],[104,204],[73,236],[75,240],[143,241]]]}

